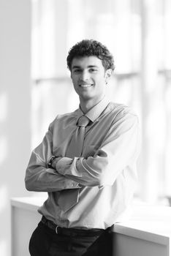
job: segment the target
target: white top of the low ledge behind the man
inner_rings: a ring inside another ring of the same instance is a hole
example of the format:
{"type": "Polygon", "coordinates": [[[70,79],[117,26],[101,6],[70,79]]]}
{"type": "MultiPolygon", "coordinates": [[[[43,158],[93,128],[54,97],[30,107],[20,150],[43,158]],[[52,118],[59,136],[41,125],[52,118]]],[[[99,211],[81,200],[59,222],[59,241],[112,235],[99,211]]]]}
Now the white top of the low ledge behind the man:
{"type": "MultiPolygon", "coordinates": [[[[15,197],[11,205],[28,211],[37,211],[47,197],[15,197]]],[[[114,233],[167,245],[171,238],[171,208],[134,204],[129,221],[115,223],[114,233]]]]}

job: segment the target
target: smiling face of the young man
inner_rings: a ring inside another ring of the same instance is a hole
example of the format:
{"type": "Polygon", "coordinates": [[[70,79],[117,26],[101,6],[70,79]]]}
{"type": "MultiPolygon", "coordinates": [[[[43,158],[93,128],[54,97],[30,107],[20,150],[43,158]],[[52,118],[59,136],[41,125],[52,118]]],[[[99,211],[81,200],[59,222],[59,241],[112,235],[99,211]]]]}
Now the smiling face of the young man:
{"type": "Polygon", "coordinates": [[[105,95],[106,81],[110,69],[105,71],[102,61],[96,56],[85,56],[72,60],[71,78],[80,101],[99,102],[105,95]]]}

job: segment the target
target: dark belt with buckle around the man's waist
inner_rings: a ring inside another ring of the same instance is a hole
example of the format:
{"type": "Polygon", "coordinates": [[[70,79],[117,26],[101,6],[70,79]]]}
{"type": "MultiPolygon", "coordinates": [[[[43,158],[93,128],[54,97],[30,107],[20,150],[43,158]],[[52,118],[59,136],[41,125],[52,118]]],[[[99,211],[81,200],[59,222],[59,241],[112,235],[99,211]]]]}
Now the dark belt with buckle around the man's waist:
{"type": "Polygon", "coordinates": [[[41,222],[53,230],[58,235],[63,236],[100,236],[104,233],[104,230],[99,228],[92,228],[91,230],[81,230],[77,228],[66,228],[66,227],[59,227],[54,222],[49,219],[46,219],[44,216],[41,219],[41,222]]]}

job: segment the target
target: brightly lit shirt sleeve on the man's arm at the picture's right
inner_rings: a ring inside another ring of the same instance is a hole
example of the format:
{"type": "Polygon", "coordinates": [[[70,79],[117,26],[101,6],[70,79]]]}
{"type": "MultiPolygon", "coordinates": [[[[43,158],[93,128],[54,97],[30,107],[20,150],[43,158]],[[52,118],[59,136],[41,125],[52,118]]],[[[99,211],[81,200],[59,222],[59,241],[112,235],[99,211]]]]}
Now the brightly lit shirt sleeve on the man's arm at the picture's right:
{"type": "Polygon", "coordinates": [[[75,157],[72,161],[63,157],[58,161],[56,170],[83,186],[111,186],[121,171],[135,169],[139,151],[138,118],[132,113],[120,113],[94,156],[75,157]]]}

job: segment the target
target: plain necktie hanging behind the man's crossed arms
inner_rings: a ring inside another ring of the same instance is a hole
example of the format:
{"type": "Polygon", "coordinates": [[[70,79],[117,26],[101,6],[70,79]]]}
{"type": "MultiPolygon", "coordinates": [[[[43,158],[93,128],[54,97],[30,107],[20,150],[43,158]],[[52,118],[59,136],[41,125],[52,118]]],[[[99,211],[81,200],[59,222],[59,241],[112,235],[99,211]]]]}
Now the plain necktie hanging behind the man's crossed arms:
{"type": "MultiPolygon", "coordinates": [[[[83,151],[84,135],[86,126],[89,123],[86,116],[81,116],[77,121],[76,132],[72,135],[72,140],[66,151],[66,157],[80,157],[83,151]]],[[[75,206],[78,202],[80,189],[64,189],[58,197],[58,205],[63,211],[68,211],[69,208],[75,206]]]]}

